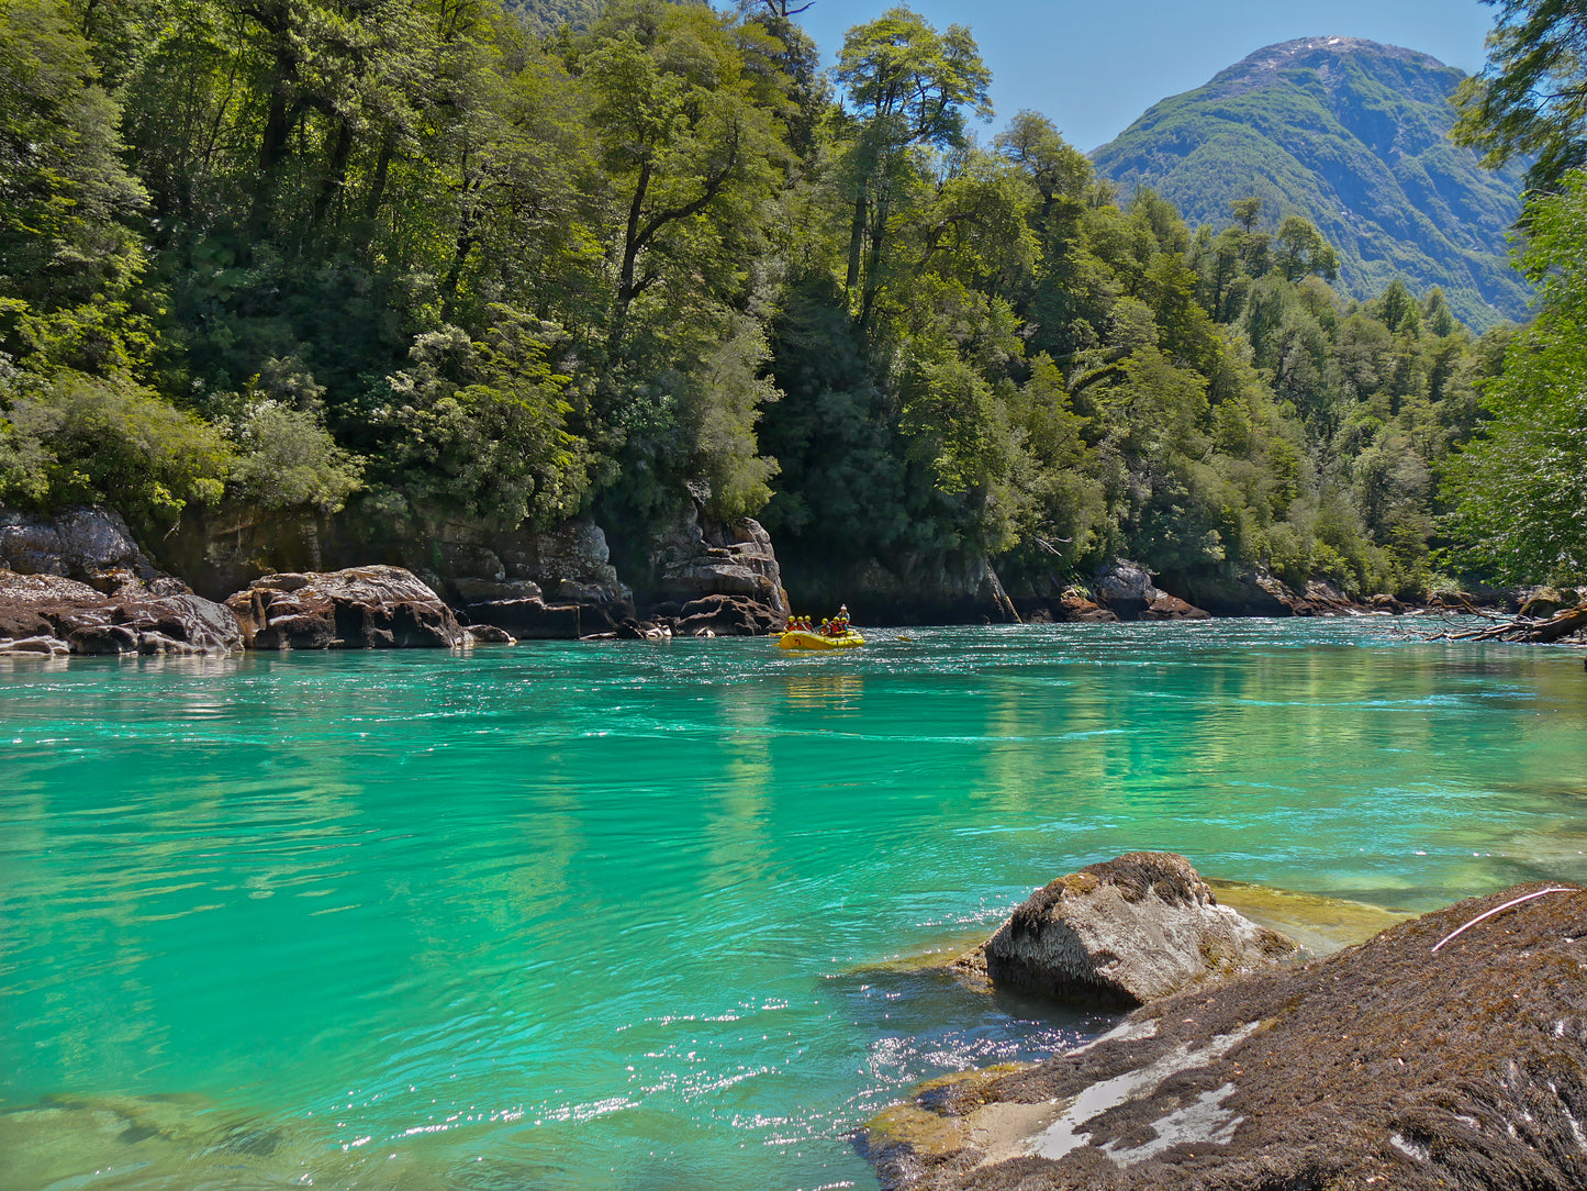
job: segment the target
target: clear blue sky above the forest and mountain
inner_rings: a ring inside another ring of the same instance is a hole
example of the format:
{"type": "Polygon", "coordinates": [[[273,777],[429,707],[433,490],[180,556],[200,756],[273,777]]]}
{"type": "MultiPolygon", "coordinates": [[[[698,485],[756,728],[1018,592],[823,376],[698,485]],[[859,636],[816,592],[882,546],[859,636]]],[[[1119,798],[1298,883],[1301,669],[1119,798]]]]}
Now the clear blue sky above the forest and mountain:
{"type": "MultiPolygon", "coordinates": [[[[798,16],[830,65],[843,33],[892,0],[816,0],[798,16]]],[[[1254,49],[1297,37],[1363,37],[1476,71],[1493,10],[1477,0],[913,0],[933,25],[970,25],[992,68],[997,118],[1046,114],[1095,149],[1152,103],[1206,83],[1254,49]]]]}

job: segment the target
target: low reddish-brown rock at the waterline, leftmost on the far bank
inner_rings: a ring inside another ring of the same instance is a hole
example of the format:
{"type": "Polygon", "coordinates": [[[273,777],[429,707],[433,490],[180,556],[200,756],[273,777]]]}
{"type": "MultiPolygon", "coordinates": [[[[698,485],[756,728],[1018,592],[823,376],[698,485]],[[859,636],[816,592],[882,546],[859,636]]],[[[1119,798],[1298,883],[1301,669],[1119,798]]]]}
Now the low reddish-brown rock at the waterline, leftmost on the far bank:
{"type": "Polygon", "coordinates": [[[106,594],[59,575],[0,570],[0,653],[221,656],[241,648],[236,616],[176,580],[125,578],[106,594]]]}

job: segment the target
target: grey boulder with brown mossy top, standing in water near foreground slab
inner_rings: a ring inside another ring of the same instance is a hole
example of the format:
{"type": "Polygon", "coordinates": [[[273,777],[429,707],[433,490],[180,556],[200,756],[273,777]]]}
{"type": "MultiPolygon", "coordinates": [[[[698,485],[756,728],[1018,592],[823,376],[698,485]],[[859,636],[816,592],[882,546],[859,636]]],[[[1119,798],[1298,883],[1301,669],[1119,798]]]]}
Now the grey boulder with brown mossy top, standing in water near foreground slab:
{"type": "Polygon", "coordinates": [[[1136,851],[1038,889],[981,950],[993,983],[1133,1008],[1298,948],[1219,905],[1184,856],[1136,851]]]}

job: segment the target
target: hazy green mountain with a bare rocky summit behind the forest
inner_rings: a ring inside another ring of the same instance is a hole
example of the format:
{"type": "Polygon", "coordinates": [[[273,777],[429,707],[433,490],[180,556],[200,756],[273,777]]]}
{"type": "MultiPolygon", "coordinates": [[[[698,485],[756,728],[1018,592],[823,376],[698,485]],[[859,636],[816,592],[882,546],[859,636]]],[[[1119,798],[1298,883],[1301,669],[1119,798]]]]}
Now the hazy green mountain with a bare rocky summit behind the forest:
{"type": "Polygon", "coordinates": [[[1305,214],[1339,252],[1339,287],[1366,299],[1393,278],[1441,286],[1484,329],[1528,318],[1509,267],[1525,162],[1484,170],[1449,141],[1465,75],[1438,59],[1347,37],[1258,49],[1165,98],[1092,154],[1128,195],[1149,186],[1192,224],[1232,222],[1258,195],[1265,225],[1305,214]]]}

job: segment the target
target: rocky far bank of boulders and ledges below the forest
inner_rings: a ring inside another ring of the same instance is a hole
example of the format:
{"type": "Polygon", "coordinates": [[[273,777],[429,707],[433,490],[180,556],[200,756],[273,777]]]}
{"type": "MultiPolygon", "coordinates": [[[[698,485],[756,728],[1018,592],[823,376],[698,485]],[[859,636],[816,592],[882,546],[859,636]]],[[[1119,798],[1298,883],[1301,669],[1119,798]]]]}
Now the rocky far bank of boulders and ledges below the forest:
{"type": "MultiPolygon", "coordinates": [[[[198,518],[160,548],[160,562],[175,575],[156,565],[111,511],[73,508],[43,518],[0,510],[0,653],[763,635],[781,630],[792,611],[767,530],[751,518],[711,521],[698,502],[659,529],[643,557],[630,559],[633,584],[587,516],[527,530],[433,519],[282,526],[233,511],[230,519],[198,518]],[[236,613],[235,624],[221,605],[236,613]]],[[[911,586],[873,567],[855,576],[859,586],[846,599],[867,624],[1482,608],[1528,618],[1581,603],[1581,592],[1552,588],[1446,592],[1422,605],[1390,596],[1357,600],[1324,581],[1297,592],[1265,572],[1214,580],[1152,575],[1127,559],[1111,559],[1089,581],[1054,584],[1047,594],[1028,584],[1005,591],[984,559],[949,570],[938,567],[911,586]]]]}

